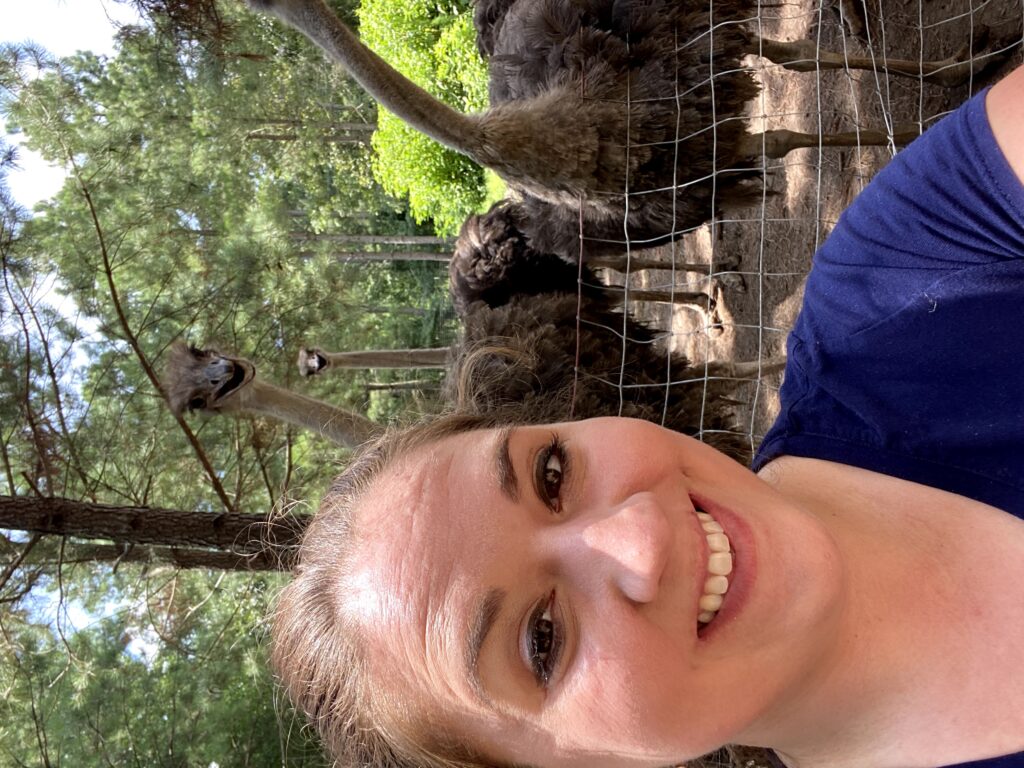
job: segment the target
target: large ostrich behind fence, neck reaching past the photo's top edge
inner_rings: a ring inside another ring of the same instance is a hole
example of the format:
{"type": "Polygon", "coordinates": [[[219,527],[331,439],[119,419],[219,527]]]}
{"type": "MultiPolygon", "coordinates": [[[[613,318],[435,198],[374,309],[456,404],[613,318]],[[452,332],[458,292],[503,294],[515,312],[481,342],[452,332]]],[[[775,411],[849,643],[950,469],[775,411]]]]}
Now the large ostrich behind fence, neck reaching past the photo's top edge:
{"type": "MultiPolygon", "coordinates": [[[[624,237],[654,245],[719,211],[760,199],[762,155],[808,145],[888,143],[884,132],[819,137],[748,132],[758,93],[742,65],[760,54],[797,71],[872,69],[810,41],[758,37],[751,0],[489,0],[477,7],[490,56],[490,109],[464,115],[433,98],[364,46],[323,0],[249,0],[295,27],[386,109],[495,170],[534,248],[575,259],[621,251],[624,237]],[[677,95],[678,94],[678,95],[677,95]]],[[[943,85],[988,61],[887,59],[893,74],[943,85]]],[[[915,130],[893,137],[905,142],[915,130]]]]}

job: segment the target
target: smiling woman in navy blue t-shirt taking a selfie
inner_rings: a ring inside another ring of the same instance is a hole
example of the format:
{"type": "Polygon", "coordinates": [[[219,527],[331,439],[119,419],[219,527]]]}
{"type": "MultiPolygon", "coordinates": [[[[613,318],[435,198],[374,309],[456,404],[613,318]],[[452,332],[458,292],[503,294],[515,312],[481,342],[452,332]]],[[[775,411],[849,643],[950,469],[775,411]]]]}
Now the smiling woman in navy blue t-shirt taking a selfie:
{"type": "Polygon", "coordinates": [[[1018,70],[844,214],[756,474],[625,419],[368,449],[274,616],[339,764],[1024,766],[1022,147],[1018,70]]]}

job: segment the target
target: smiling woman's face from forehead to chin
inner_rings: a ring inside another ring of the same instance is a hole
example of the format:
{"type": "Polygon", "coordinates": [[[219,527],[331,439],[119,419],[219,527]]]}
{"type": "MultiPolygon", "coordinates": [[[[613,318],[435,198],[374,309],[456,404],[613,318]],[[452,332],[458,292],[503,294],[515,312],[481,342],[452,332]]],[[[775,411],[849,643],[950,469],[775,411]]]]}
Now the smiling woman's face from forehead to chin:
{"type": "Polygon", "coordinates": [[[770,743],[841,612],[813,517],[647,422],[445,438],[389,467],[355,519],[340,599],[371,674],[506,763],[770,743]]]}

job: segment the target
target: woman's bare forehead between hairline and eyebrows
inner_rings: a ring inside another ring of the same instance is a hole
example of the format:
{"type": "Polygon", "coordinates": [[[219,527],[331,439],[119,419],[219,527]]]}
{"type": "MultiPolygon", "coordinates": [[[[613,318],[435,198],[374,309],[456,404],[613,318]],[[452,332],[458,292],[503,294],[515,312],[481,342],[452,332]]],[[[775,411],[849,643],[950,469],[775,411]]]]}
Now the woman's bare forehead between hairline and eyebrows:
{"type": "Polygon", "coordinates": [[[406,684],[451,680],[453,670],[437,664],[461,657],[479,565],[469,560],[488,546],[473,532],[481,529],[474,509],[494,488],[487,465],[496,434],[455,435],[410,452],[356,509],[341,608],[362,628],[371,664],[406,684]]]}

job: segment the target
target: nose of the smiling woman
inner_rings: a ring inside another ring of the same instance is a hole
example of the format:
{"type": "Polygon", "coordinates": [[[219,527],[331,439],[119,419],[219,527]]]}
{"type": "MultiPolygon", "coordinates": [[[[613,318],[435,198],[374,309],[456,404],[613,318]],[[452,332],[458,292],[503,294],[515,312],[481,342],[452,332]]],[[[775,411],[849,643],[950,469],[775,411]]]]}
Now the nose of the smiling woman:
{"type": "Polygon", "coordinates": [[[657,596],[672,538],[654,495],[634,494],[588,521],[579,542],[585,552],[579,554],[630,600],[648,603],[657,596]]]}

